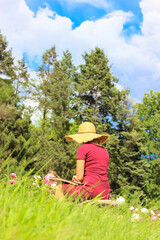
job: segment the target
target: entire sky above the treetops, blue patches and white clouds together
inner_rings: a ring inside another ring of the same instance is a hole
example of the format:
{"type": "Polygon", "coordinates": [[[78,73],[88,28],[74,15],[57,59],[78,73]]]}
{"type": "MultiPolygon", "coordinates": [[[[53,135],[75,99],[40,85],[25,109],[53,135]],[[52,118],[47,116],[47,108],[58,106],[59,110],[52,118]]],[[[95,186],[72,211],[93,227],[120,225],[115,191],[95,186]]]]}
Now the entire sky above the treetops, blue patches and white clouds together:
{"type": "Polygon", "coordinates": [[[134,102],[160,90],[160,0],[0,0],[0,30],[32,77],[53,45],[75,65],[100,47],[134,102]]]}

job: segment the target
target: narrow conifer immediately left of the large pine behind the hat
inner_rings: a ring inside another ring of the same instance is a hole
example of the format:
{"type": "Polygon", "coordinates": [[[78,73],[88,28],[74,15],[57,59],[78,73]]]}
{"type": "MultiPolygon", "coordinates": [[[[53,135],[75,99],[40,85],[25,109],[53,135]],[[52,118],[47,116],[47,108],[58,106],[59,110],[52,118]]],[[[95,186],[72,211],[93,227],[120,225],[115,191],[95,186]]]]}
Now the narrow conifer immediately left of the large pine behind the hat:
{"type": "Polygon", "coordinates": [[[51,79],[52,127],[59,129],[57,139],[65,147],[64,135],[68,132],[70,121],[74,117],[74,78],[75,67],[69,51],[63,52],[62,59],[56,63],[51,79]]]}

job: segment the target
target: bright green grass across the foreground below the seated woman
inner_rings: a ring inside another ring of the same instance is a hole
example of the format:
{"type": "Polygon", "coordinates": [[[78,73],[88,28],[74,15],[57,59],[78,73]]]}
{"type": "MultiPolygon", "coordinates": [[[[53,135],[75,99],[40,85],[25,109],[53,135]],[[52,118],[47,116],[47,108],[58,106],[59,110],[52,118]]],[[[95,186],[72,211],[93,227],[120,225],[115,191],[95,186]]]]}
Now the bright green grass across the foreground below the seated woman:
{"type": "Polygon", "coordinates": [[[0,240],[155,240],[160,220],[131,221],[130,206],[99,207],[54,198],[28,177],[0,181],[0,240]]]}

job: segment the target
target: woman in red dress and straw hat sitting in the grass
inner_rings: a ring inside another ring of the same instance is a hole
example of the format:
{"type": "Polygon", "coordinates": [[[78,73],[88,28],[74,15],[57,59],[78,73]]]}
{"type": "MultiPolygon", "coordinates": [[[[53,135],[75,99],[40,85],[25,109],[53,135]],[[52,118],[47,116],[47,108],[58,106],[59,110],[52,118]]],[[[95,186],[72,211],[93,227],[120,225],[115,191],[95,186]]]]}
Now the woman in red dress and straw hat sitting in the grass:
{"type": "Polygon", "coordinates": [[[77,150],[76,175],[72,180],[81,185],[59,185],[56,196],[72,195],[73,198],[92,199],[100,196],[102,199],[110,198],[110,185],[107,172],[109,155],[100,144],[106,142],[109,135],[97,134],[95,126],[90,122],[84,122],[79,126],[78,134],[65,136],[68,141],[82,143],[77,150]]]}

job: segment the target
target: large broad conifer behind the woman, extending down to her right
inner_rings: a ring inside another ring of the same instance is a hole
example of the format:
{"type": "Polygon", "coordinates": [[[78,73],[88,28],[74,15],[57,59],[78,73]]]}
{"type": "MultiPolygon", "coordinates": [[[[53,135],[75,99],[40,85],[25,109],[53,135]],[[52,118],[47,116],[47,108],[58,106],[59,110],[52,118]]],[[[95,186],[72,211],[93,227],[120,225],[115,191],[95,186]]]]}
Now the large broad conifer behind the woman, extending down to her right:
{"type": "Polygon", "coordinates": [[[106,148],[110,154],[109,176],[113,192],[145,195],[148,165],[138,133],[138,120],[131,114],[129,91],[118,90],[116,79],[103,50],[84,54],[77,79],[77,119],[91,121],[98,132],[110,134],[106,148]],[[78,105],[79,104],[79,105],[78,105]]]}

